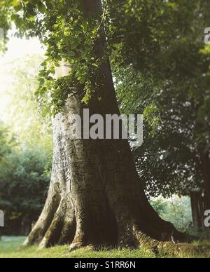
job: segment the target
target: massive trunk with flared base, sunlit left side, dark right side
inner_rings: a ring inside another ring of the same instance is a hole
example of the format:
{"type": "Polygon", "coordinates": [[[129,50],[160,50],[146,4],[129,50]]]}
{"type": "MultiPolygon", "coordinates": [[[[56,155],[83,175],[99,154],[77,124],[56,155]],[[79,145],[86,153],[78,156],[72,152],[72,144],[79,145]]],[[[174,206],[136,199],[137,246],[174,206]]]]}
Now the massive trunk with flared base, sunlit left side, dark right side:
{"type": "MultiPolygon", "coordinates": [[[[101,1],[83,1],[86,11],[101,11],[101,1]]],[[[96,55],[103,55],[97,42],[96,55]]],[[[119,114],[111,68],[100,68],[102,101],[92,99],[90,114],[119,114]]],[[[78,86],[77,88],[80,88],[78,86]]],[[[45,207],[25,245],[71,244],[137,247],[145,237],[183,240],[172,224],[149,205],[127,140],[72,140],[73,114],[83,114],[79,92],[69,95],[61,114],[53,118],[54,158],[45,207]]],[[[146,239],[147,240],[147,239],[146,239]]]]}

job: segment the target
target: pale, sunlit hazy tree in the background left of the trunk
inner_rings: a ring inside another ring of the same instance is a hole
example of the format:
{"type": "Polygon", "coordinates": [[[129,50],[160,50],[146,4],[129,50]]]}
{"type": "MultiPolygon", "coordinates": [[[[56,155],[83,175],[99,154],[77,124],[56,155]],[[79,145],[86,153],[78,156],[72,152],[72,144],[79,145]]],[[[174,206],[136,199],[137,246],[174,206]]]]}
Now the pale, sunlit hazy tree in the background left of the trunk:
{"type": "Polygon", "coordinates": [[[15,132],[22,146],[45,149],[52,154],[52,127],[49,116],[45,116],[39,107],[35,92],[38,88],[38,72],[43,56],[31,53],[5,64],[3,73],[9,74],[7,88],[3,95],[7,97],[5,123],[15,132]],[[22,122],[22,120],[25,122],[22,122]]]}

